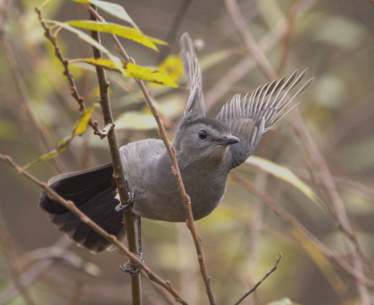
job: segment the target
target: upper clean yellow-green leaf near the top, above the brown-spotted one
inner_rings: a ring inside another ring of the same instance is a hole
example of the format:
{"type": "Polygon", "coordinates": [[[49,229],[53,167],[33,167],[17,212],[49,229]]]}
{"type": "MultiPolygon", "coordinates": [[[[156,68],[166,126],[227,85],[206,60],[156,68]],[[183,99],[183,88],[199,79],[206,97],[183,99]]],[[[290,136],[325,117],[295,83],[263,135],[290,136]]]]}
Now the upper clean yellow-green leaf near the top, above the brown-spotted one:
{"type": "Polygon", "coordinates": [[[117,36],[125,37],[135,42],[141,43],[148,48],[151,48],[158,52],[157,47],[154,45],[152,40],[144,35],[137,28],[125,27],[111,22],[101,22],[101,21],[92,21],[92,20],[70,20],[65,23],[72,25],[73,27],[86,28],[92,31],[99,31],[105,33],[115,34],[117,36]]]}

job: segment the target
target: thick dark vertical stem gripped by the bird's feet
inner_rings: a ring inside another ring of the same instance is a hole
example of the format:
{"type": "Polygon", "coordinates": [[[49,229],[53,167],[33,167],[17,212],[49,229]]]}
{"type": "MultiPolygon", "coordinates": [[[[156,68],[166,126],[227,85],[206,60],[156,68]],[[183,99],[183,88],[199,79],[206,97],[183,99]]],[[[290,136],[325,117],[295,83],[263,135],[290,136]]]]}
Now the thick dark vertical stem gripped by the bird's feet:
{"type": "MultiPolygon", "coordinates": [[[[90,12],[90,19],[97,20],[96,17],[90,12]]],[[[100,43],[99,33],[96,31],[91,31],[91,36],[93,39],[97,40],[100,43]]],[[[102,58],[101,51],[93,47],[93,56],[95,59],[102,58]]],[[[119,152],[119,147],[117,143],[116,133],[114,131],[114,122],[113,116],[110,109],[109,93],[108,87],[109,82],[105,75],[105,71],[101,67],[96,67],[96,74],[99,83],[100,91],[100,104],[102,109],[102,114],[104,116],[105,126],[111,126],[108,131],[107,138],[110,147],[110,154],[113,162],[113,177],[117,183],[117,189],[122,205],[126,202],[128,197],[128,189],[126,187],[125,177],[123,176],[123,169],[121,163],[121,157],[119,152]]],[[[129,250],[132,253],[138,254],[137,242],[135,235],[135,226],[134,219],[132,216],[131,210],[123,210],[123,220],[124,226],[126,229],[127,241],[129,245],[129,250]]],[[[131,276],[131,292],[132,292],[132,304],[140,305],[141,304],[141,283],[140,283],[140,274],[131,276]]]]}

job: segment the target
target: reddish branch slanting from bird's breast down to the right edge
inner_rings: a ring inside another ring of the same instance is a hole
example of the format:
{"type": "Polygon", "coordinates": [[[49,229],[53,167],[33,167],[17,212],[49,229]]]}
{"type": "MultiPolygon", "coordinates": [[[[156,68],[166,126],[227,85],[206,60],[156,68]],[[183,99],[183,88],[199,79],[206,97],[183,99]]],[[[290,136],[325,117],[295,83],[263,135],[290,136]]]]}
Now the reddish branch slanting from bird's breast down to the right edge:
{"type": "Polygon", "coordinates": [[[235,181],[242,184],[249,192],[251,192],[256,197],[260,198],[264,203],[269,205],[269,207],[273,210],[276,215],[279,215],[288,222],[291,226],[293,226],[301,235],[303,235],[307,240],[309,240],[319,251],[321,251],[325,256],[329,257],[330,259],[334,260],[341,268],[347,271],[352,277],[354,277],[360,283],[365,284],[368,287],[374,287],[374,281],[370,280],[369,278],[365,277],[362,272],[359,272],[355,268],[353,268],[341,255],[335,251],[330,250],[326,247],[317,237],[315,237],[307,228],[305,228],[295,216],[286,212],[280,205],[278,205],[267,193],[261,192],[258,189],[255,189],[252,183],[241,179],[237,174],[231,173],[230,177],[232,177],[235,181]]]}

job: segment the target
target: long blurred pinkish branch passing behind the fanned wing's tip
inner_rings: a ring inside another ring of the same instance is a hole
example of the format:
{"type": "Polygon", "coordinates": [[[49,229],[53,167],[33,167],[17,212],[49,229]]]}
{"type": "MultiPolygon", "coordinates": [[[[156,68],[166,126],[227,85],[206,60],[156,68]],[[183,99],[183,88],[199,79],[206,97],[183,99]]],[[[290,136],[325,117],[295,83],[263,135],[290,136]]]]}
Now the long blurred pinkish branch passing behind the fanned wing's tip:
{"type": "MultiPolygon", "coordinates": [[[[260,66],[261,70],[263,70],[263,73],[270,81],[277,79],[278,75],[276,71],[272,68],[272,66],[266,58],[266,55],[257,46],[251,32],[248,30],[247,25],[243,19],[243,16],[240,13],[237,2],[235,0],[225,0],[225,3],[229,11],[229,14],[234,22],[234,25],[236,26],[237,30],[242,34],[246,47],[248,48],[249,52],[251,52],[253,58],[260,66]]],[[[292,107],[292,105],[290,107],[292,107]]],[[[341,231],[347,237],[347,245],[350,253],[352,254],[353,264],[356,266],[357,271],[359,273],[362,273],[363,266],[361,257],[363,256],[363,254],[357,241],[356,234],[353,232],[352,227],[350,226],[350,222],[344,207],[343,199],[337,191],[333,177],[328,169],[327,162],[325,158],[322,156],[321,152],[319,152],[311,135],[307,131],[305,123],[303,122],[303,119],[301,118],[298,109],[294,109],[294,111],[291,112],[291,119],[294,128],[296,129],[299,137],[301,138],[302,143],[304,144],[304,147],[309,153],[310,158],[315,162],[315,164],[318,167],[318,170],[321,172],[322,185],[324,186],[328,194],[329,202],[331,203],[332,210],[334,211],[335,219],[339,223],[341,231]]],[[[365,301],[364,304],[368,304],[367,289],[365,287],[362,287],[361,283],[357,283],[357,285],[361,296],[361,301],[365,301]]]]}

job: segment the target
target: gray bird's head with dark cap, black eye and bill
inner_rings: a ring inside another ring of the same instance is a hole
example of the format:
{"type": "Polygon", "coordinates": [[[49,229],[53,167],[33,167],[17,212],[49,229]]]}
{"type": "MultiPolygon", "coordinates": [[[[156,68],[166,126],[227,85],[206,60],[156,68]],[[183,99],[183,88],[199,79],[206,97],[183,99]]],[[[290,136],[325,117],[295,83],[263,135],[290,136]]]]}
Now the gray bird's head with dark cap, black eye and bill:
{"type": "Polygon", "coordinates": [[[220,164],[229,145],[240,140],[231,134],[226,123],[212,118],[200,118],[181,126],[175,135],[174,146],[178,160],[184,165],[191,162],[220,164]]]}

